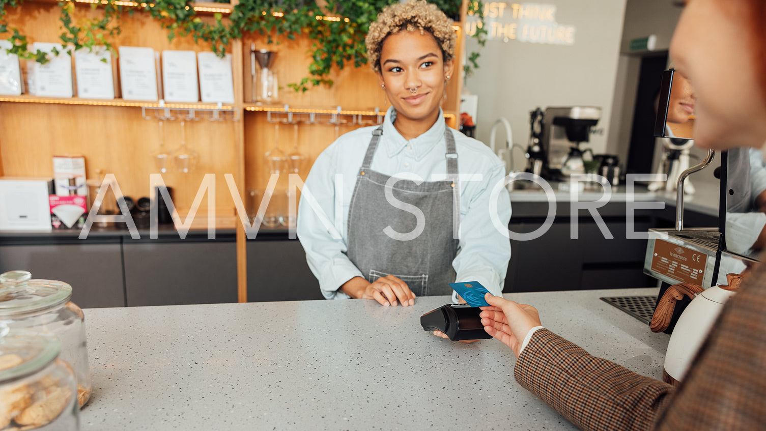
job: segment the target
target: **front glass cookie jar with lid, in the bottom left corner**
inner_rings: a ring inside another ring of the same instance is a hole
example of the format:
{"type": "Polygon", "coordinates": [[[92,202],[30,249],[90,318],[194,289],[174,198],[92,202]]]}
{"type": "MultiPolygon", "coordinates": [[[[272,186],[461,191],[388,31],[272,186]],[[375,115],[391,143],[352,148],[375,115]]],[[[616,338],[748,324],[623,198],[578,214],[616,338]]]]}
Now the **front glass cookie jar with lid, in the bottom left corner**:
{"type": "Polygon", "coordinates": [[[77,381],[50,332],[0,326],[0,430],[80,429],[77,381]]]}

